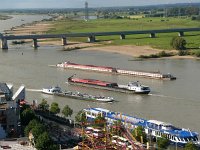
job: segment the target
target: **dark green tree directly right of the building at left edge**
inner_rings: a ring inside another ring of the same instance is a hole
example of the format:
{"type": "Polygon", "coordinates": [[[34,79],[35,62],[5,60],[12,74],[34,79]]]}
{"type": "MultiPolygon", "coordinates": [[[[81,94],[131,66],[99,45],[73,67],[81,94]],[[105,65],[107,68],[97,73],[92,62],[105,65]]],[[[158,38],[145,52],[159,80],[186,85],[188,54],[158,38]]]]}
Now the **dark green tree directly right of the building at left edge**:
{"type": "Polygon", "coordinates": [[[21,124],[26,126],[35,118],[35,112],[32,109],[27,108],[21,113],[21,124]]]}

